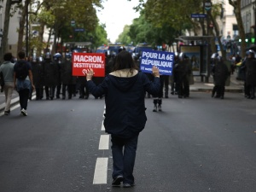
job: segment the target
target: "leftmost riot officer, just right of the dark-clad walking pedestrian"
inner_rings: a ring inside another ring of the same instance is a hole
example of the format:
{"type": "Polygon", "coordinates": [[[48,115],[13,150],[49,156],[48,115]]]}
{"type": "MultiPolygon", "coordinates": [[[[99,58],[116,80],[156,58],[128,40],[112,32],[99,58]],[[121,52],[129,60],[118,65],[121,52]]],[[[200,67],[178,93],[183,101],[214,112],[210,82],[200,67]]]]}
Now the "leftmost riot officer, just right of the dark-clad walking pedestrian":
{"type": "Polygon", "coordinates": [[[32,75],[36,89],[36,100],[41,100],[44,97],[44,71],[43,57],[32,58],[32,75]]]}

